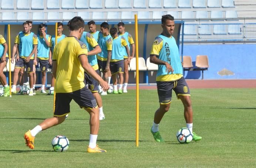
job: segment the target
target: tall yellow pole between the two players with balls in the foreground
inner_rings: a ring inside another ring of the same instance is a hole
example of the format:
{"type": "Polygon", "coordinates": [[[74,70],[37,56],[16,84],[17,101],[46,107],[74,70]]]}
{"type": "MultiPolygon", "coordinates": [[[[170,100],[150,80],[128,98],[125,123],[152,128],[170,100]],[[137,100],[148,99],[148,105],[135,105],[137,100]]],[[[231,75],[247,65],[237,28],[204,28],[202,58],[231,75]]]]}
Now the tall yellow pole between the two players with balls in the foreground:
{"type": "Polygon", "coordinates": [[[136,147],[139,146],[139,47],[138,16],[135,14],[135,47],[136,47],[136,147]]]}

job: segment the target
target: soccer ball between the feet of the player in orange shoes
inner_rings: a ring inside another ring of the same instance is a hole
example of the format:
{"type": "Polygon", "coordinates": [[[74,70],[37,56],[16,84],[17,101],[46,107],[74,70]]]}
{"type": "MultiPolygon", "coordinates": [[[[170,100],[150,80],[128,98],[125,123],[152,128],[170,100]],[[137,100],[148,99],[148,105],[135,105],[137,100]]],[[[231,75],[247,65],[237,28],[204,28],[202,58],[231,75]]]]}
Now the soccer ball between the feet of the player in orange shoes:
{"type": "Polygon", "coordinates": [[[53,150],[56,152],[64,152],[68,150],[69,141],[67,137],[58,135],[53,138],[51,141],[51,145],[53,146],[53,150]]]}

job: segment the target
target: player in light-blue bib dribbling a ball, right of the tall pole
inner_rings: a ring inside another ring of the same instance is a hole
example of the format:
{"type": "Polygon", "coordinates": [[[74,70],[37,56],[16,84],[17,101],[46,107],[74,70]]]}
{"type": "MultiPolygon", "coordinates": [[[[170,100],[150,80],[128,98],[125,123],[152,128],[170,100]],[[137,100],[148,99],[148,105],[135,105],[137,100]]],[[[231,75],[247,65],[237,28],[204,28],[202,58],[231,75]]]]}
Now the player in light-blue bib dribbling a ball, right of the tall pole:
{"type": "Polygon", "coordinates": [[[156,85],[160,107],[156,110],[151,133],[155,141],[164,141],[159,132],[159,123],[164,114],[169,110],[172,90],[184,106],[184,117],[186,127],[193,134],[193,140],[199,141],[202,137],[192,132],[193,111],[188,84],[182,75],[179,49],[172,34],[174,33],[174,17],[172,15],[162,16],[162,34],[156,36],[150,52],[150,62],[158,64],[156,74],[156,85]]]}

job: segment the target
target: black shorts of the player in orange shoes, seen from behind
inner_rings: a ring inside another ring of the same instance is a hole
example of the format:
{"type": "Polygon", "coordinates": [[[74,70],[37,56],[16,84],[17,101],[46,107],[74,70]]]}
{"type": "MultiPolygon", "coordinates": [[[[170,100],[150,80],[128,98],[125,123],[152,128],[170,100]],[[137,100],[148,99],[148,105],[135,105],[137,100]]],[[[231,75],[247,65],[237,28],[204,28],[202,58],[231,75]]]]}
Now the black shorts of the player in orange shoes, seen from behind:
{"type": "Polygon", "coordinates": [[[87,87],[70,93],[56,93],[55,98],[55,111],[53,116],[61,117],[70,113],[70,102],[72,99],[83,109],[97,107],[97,102],[87,87]]]}

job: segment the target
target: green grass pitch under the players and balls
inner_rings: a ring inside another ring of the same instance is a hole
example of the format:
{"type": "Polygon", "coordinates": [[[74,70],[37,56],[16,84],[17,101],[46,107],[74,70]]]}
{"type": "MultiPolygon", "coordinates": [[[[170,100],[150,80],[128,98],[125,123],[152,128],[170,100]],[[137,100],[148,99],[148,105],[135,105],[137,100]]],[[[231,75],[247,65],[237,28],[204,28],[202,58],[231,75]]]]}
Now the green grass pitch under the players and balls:
{"type": "Polygon", "coordinates": [[[159,106],[157,92],[140,90],[139,147],[135,146],[135,90],[103,96],[106,118],[100,122],[97,143],[107,153],[96,154],[86,152],[89,115],[74,101],[65,122],[37,134],[31,150],[23,135],[53,115],[53,96],[37,92],[33,97],[0,97],[0,167],[256,167],[255,93],[255,88],[191,89],[193,131],[202,140],[179,144],[175,134],[186,126],[181,101],[172,98],[159,126],[165,142],[157,143],[149,131],[159,106]],[[51,140],[56,135],[68,137],[68,151],[53,151],[51,140]]]}

